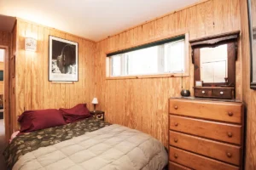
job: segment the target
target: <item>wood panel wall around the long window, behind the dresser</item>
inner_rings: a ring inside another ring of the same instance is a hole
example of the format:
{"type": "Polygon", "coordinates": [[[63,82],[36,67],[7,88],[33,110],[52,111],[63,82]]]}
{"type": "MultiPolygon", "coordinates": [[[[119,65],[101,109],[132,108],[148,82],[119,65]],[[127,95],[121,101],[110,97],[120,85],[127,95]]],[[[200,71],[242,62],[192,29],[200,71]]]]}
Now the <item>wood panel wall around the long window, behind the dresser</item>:
{"type": "MultiPolygon", "coordinates": [[[[209,0],[150,20],[96,44],[96,97],[108,122],[149,133],[167,145],[168,103],[179,96],[180,77],[106,80],[106,52],[136,46],[160,37],[189,32],[189,39],[237,31],[241,28],[239,0],[209,0]]],[[[236,61],[236,98],[241,99],[241,42],[236,61]]],[[[183,87],[193,91],[189,49],[189,77],[183,87]]]]}

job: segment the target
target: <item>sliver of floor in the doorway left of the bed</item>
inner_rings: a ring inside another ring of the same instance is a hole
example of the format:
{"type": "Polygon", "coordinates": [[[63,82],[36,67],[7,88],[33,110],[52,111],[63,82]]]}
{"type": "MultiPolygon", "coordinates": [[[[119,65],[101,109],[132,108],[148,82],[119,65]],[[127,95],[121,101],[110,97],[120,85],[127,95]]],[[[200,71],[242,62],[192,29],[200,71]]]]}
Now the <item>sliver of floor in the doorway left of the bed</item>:
{"type": "Polygon", "coordinates": [[[4,126],[3,119],[0,119],[0,169],[7,170],[5,162],[3,161],[3,150],[5,148],[6,142],[4,137],[4,126]]]}

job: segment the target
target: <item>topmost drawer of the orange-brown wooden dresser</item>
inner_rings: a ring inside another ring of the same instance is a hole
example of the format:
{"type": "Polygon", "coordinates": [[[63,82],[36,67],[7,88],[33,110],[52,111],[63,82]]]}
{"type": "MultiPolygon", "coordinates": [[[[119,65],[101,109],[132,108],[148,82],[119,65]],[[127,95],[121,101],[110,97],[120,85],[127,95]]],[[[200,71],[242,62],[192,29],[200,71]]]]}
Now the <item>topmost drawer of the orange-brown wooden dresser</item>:
{"type": "Polygon", "coordinates": [[[228,102],[209,102],[191,99],[170,99],[169,112],[223,122],[241,123],[242,105],[228,102]]]}

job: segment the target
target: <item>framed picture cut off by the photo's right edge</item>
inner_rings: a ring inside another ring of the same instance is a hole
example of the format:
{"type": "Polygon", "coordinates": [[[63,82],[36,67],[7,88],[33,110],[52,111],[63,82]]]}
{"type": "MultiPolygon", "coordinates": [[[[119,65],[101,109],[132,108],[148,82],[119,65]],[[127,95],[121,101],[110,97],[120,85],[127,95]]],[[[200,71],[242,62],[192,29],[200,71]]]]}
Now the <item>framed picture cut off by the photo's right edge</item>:
{"type": "Polygon", "coordinates": [[[250,88],[256,90],[256,0],[247,0],[247,4],[251,54],[250,88]]]}

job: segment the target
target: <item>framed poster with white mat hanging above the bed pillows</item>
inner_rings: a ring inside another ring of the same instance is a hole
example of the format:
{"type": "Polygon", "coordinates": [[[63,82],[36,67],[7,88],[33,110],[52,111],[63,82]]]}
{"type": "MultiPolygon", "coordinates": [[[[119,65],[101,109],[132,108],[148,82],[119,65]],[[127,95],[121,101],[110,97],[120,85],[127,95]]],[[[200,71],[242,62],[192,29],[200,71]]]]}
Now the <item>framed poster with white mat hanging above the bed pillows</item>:
{"type": "Polygon", "coordinates": [[[49,36],[49,82],[79,81],[79,43],[49,36]]]}

